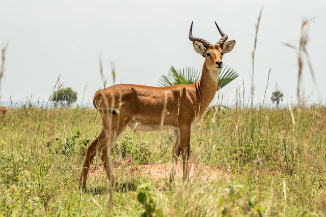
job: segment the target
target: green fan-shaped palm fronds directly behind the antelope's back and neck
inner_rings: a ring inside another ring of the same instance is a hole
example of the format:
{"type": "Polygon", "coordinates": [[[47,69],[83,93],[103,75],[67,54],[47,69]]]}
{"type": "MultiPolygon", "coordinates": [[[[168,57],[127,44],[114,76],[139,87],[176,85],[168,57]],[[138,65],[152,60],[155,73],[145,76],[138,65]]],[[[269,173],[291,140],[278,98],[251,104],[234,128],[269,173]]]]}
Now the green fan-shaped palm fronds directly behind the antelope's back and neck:
{"type": "MultiPolygon", "coordinates": [[[[159,86],[170,86],[176,84],[193,84],[200,79],[201,72],[195,68],[185,67],[183,69],[175,69],[171,67],[168,75],[162,75],[158,80],[159,86]]],[[[238,73],[229,66],[225,66],[220,71],[219,86],[216,91],[233,81],[238,77],[238,73]]]]}

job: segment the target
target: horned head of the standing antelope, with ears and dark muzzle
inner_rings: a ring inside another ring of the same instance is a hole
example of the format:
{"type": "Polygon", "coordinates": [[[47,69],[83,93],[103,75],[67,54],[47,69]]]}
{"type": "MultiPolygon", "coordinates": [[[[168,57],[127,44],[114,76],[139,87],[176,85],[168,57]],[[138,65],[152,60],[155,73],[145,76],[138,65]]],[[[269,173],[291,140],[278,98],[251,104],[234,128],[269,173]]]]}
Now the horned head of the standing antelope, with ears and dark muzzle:
{"type": "Polygon", "coordinates": [[[223,67],[223,54],[230,52],[235,45],[234,40],[226,41],[228,36],[222,32],[216,22],[215,24],[222,38],[214,45],[205,39],[193,37],[193,22],[189,30],[189,39],[193,42],[195,51],[205,57],[204,64],[210,72],[220,72],[223,67]]]}

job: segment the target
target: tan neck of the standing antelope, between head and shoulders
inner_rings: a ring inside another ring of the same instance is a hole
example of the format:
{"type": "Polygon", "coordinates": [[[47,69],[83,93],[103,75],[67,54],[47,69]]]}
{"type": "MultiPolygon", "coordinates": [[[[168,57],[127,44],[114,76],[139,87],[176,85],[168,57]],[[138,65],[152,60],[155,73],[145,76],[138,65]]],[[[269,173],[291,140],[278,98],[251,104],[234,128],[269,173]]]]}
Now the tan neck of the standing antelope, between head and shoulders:
{"type": "Polygon", "coordinates": [[[213,100],[219,83],[219,72],[210,72],[205,63],[202,70],[202,77],[196,83],[197,97],[199,97],[200,111],[206,112],[210,102],[213,100]]]}

